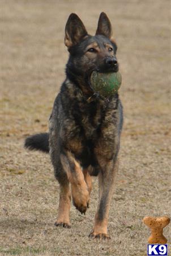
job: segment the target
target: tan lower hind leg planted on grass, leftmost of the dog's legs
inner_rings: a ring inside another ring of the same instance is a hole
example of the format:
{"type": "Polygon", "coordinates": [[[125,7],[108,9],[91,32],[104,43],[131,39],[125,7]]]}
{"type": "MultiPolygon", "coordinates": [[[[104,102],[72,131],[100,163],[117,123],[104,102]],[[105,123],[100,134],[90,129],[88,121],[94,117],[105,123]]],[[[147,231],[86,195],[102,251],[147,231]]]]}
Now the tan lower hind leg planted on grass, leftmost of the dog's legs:
{"type": "Polygon", "coordinates": [[[58,217],[55,221],[56,226],[63,226],[64,228],[70,228],[69,212],[70,212],[70,201],[71,192],[69,181],[65,184],[60,184],[60,195],[59,195],[59,209],[58,217]]]}

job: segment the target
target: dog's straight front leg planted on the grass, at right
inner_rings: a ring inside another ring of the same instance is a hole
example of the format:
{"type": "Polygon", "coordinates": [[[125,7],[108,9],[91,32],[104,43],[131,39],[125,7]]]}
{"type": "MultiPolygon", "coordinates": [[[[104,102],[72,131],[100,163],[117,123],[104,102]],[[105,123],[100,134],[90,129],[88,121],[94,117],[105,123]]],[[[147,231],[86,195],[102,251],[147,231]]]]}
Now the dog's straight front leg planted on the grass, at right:
{"type": "Polygon", "coordinates": [[[95,225],[89,235],[92,238],[109,239],[107,234],[110,201],[114,187],[114,180],[118,170],[118,162],[101,159],[102,170],[99,173],[99,205],[95,216],[95,225]]]}

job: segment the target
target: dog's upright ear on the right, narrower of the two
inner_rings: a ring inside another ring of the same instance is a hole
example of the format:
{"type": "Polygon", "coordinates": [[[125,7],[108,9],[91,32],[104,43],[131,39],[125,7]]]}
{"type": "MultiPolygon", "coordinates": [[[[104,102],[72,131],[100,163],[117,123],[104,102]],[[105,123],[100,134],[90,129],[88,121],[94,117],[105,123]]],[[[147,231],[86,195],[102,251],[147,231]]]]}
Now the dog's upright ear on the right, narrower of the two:
{"type": "Polygon", "coordinates": [[[105,13],[100,14],[96,35],[104,35],[109,39],[112,38],[112,25],[105,13]]]}

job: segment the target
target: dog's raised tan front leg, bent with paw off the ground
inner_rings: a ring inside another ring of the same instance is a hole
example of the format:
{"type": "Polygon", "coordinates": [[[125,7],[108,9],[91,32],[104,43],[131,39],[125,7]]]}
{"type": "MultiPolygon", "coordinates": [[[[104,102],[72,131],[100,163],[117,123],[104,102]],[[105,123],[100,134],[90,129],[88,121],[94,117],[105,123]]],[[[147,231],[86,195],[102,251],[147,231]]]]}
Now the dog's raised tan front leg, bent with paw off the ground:
{"type": "Polygon", "coordinates": [[[61,154],[61,163],[71,183],[73,204],[80,213],[85,214],[89,204],[89,192],[82,167],[70,152],[67,152],[67,156],[61,154]]]}

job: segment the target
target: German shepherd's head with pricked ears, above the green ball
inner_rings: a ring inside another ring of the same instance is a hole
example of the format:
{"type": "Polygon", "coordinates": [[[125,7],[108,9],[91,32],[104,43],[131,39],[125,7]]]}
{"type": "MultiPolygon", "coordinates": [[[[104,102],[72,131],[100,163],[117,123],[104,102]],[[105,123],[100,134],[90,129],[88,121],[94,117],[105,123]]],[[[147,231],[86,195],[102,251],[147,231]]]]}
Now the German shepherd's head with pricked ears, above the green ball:
{"type": "Polygon", "coordinates": [[[70,57],[67,75],[89,85],[91,73],[117,72],[117,45],[112,38],[112,26],[105,13],[101,13],[95,36],[88,35],[82,20],[71,14],[65,28],[65,45],[70,57]]]}

